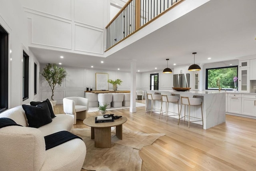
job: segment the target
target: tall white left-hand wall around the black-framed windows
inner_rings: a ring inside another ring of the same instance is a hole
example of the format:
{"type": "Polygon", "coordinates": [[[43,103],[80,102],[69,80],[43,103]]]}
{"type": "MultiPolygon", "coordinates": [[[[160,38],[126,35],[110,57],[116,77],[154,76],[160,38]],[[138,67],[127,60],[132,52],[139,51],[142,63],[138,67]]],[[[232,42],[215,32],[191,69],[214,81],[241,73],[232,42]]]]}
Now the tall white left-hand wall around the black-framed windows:
{"type": "Polygon", "coordinates": [[[9,71],[8,71],[8,107],[28,103],[34,96],[34,61],[38,62],[28,49],[28,23],[20,0],[0,1],[0,24],[9,33],[9,71]],[[30,61],[29,98],[22,101],[22,58],[23,50],[27,52],[30,61]],[[33,93],[32,93],[33,92],[33,93]]]}

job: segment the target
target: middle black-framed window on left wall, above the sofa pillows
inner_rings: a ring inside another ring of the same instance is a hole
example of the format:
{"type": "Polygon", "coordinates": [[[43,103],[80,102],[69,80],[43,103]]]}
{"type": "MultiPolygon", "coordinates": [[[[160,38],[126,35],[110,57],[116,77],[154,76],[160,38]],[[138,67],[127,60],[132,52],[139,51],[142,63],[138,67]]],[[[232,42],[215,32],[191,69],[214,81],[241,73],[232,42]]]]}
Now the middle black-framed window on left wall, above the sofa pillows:
{"type": "Polygon", "coordinates": [[[22,82],[23,82],[23,93],[22,93],[22,100],[28,99],[28,91],[29,91],[29,56],[26,54],[26,52],[23,50],[23,76],[22,76],[22,82]]]}

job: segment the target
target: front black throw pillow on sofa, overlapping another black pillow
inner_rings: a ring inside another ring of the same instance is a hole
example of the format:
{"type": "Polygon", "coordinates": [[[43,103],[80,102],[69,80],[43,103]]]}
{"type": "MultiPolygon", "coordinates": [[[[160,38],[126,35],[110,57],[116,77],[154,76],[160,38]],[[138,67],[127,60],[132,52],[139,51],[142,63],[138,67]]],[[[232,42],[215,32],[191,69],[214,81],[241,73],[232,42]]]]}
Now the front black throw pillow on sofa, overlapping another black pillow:
{"type": "Polygon", "coordinates": [[[46,101],[37,106],[22,105],[28,120],[28,127],[39,128],[52,122],[49,107],[46,101]]]}

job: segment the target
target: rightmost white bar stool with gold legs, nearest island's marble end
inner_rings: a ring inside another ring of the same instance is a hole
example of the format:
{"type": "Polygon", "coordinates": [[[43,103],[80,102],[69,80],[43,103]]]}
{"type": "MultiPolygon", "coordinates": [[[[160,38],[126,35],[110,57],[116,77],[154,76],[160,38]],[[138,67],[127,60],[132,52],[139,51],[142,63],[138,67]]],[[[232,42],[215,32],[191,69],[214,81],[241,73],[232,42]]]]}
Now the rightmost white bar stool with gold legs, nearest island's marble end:
{"type": "MultiPolygon", "coordinates": [[[[188,128],[189,128],[189,123],[190,122],[197,122],[197,121],[202,121],[203,123],[203,127],[204,127],[204,119],[203,119],[203,107],[202,107],[202,99],[200,98],[192,98],[192,97],[183,97],[181,96],[180,97],[181,99],[181,107],[180,107],[180,115],[181,115],[181,110],[182,110],[182,105],[185,105],[185,108],[184,108],[184,121],[186,120],[186,116],[188,116],[188,128]],[[188,112],[188,115],[186,115],[186,105],[188,105],[188,109],[189,109],[189,112],[188,112]],[[194,106],[198,106],[200,105],[201,106],[201,111],[202,111],[202,118],[198,118],[198,117],[193,117],[193,118],[196,118],[196,119],[202,119],[202,120],[196,120],[196,121],[190,121],[190,106],[191,105],[194,105],[194,106]]],[[[180,117],[179,115],[179,121],[178,121],[178,124],[180,122],[180,119],[182,119],[183,117],[180,117]]]]}

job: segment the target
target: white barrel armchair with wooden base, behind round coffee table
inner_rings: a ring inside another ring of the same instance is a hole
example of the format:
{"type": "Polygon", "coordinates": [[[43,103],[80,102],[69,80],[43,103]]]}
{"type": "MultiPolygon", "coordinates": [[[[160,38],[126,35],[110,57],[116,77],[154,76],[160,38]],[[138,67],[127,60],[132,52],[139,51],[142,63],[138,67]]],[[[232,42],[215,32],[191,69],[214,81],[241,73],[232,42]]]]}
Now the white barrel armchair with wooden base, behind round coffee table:
{"type": "Polygon", "coordinates": [[[74,124],[76,124],[76,119],[84,120],[86,118],[89,109],[88,99],[84,97],[65,97],[63,99],[63,109],[67,115],[74,118],[74,124]]]}

